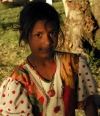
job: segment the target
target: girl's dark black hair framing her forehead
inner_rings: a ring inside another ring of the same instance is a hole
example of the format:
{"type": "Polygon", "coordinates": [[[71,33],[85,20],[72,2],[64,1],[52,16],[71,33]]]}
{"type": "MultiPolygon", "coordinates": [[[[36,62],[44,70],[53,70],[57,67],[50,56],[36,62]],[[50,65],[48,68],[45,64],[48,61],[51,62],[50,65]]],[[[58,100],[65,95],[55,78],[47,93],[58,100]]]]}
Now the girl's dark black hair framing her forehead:
{"type": "Polygon", "coordinates": [[[60,15],[55,8],[45,2],[29,2],[20,12],[19,25],[21,34],[19,45],[22,40],[25,43],[28,42],[29,34],[38,20],[52,22],[55,30],[59,33],[60,15]]]}

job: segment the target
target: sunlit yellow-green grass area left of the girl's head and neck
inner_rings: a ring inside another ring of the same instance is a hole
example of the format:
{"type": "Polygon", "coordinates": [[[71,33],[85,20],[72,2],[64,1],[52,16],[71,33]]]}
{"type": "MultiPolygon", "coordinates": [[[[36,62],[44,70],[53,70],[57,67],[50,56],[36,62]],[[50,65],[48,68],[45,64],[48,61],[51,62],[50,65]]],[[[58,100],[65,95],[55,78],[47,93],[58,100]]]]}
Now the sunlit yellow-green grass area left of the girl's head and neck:
{"type": "Polygon", "coordinates": [[[25,47],[18,46],[16,26],[21,8],[0,4],[0,80],[8,76],[28,54],[25,47]]]}

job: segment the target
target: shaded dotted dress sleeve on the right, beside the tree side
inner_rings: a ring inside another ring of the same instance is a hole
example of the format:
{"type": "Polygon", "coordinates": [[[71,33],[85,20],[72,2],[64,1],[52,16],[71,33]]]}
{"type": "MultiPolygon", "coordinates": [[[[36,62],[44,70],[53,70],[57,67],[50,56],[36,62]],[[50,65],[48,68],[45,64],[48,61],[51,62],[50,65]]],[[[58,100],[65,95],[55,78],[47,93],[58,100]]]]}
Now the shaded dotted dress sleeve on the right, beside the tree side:
{"type": "Polygon", "coordinates": [[[96,83],[84,58],[79,57],[78,70],[78,101],[85,100],[88,96],[96,93],[96,83]]]}

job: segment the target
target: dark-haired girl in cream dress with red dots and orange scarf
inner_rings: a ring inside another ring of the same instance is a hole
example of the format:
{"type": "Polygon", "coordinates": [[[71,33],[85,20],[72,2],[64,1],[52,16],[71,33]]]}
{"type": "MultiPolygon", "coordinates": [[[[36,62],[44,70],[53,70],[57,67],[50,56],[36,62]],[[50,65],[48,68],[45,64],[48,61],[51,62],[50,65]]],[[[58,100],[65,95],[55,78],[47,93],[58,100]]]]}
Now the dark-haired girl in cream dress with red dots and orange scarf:
{"type": "Polygon", "coordinates": [[[19,21],[19,43],[28,43],[31,54],[3,82],[1,114],[74,116],[75,108],[81,108],[87,116],[97,116],[92,97],[95,86],[86,61],[56,50],[58,39],[62,39],[58,12],[47,3],[30,2],[19,21]]]}

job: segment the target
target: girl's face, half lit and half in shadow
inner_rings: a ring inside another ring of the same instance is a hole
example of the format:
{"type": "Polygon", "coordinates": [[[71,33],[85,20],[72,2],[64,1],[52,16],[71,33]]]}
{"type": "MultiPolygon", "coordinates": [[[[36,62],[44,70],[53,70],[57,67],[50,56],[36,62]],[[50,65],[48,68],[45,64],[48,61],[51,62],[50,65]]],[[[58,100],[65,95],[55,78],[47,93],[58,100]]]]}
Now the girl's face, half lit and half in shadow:
{"type": "Polygon", "coordinates": [[[58,33],[52,23],[39,20],[29,36],[29,46],[37,58],[49,58],[58,43],[58,33]]]}

